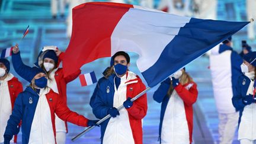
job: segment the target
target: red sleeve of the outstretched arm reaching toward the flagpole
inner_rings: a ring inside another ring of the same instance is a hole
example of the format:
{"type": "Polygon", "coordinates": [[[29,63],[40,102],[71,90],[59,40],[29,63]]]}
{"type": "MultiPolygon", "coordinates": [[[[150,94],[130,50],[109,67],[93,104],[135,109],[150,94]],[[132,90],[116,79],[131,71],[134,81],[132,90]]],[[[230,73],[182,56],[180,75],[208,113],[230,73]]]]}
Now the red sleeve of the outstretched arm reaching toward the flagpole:
{"type": "MultiPolygon", "coordinates": [[[[58,97],[59,95],[57,95],[58,97]]],[[[63,103],[61,99],[58,99],[55,113],[63,121],[76,124],[78,126],[87,127],[88,119],[78,113],[69,110],[68,106],[63,103]]]]}

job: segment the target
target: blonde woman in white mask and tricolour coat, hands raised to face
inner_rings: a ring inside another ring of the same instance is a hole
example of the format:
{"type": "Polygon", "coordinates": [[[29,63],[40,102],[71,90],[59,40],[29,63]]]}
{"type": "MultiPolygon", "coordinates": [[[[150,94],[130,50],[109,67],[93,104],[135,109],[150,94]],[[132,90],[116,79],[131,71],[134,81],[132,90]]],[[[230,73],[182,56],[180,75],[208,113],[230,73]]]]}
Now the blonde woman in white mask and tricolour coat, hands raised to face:
{"type": "Polygon", "coordinates": [[[184,69],[161,83],[153,99],[161,105],[159,140],[162,144],[192,142],[193,104],[197,85],[184,69]]]}

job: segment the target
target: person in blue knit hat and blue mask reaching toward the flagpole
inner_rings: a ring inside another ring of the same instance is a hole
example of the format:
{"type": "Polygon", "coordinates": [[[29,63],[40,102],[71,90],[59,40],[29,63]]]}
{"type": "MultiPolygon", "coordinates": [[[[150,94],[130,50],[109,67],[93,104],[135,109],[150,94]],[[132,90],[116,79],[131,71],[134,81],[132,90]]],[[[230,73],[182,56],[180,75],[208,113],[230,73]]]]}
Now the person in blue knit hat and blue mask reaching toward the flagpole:
{"type": "Polygon", "coordinates": [[[78,126],[96,125],[96,121],[69,110],[59,94],[47,87],[46,74],[42,69],[27,66],[24,71],[31,83],[15,101],[4,133],[5,144],[17,133],[20,120],[23,144],[56,143],[55,113],[60,119],[78,126]]]}

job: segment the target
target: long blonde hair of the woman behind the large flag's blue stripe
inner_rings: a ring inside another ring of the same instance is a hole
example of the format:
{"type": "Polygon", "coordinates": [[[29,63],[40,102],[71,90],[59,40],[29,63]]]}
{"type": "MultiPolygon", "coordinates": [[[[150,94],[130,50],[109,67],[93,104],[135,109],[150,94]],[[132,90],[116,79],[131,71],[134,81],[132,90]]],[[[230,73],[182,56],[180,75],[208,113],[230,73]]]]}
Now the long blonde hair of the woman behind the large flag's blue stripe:
{"type": "MultiPolygon", "coordinates": [[[[181,71],[183,72],[181,77],[179,78],[181,85],[185,85],[187,83],[193,82],[193,79],[191,78],[191,76],[187,72],[185,72],[184,69],[181,69],[181,71]]],[[[168,89],[167,95],[171,97],[171,94],[173,91],[174,91],[174,88],[172,87],[172,81],[171,81],[171,85],[168,89]]]]}

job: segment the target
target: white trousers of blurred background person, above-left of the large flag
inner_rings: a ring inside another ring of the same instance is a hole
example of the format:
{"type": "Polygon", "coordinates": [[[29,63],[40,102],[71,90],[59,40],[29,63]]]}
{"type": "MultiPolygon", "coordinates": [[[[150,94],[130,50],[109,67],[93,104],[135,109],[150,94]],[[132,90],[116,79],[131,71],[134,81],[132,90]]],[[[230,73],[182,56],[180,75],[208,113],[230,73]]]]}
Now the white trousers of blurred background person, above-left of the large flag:
{"type": "Polygon", "coordinates": [[[60,14],[64,14],[65,1],[64,0],[51,0],[52,15],[57,15],[58,9],[60,9],[60,14]]]}

